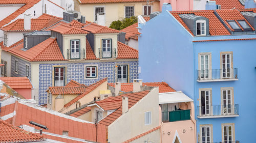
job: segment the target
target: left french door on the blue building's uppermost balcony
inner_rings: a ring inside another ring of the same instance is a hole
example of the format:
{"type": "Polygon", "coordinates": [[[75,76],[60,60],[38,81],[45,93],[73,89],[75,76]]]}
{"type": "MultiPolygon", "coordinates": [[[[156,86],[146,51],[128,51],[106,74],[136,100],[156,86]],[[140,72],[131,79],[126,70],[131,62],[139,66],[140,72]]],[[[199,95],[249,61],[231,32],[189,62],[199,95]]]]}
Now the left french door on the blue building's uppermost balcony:
{"type": "Polygon", "coordinates": [[[200,77],[209,78],[209,55],[200,55],[200,77]]]}

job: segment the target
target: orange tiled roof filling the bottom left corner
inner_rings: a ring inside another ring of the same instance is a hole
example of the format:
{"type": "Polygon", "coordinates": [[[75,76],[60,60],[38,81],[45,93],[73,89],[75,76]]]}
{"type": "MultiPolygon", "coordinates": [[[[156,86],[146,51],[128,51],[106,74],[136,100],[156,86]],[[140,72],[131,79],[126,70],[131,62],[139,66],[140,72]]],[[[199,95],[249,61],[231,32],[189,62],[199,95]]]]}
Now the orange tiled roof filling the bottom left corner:
{"type": "Polygon", "coordinates": [[[45,140],[42,135],[15,127],[0,120],[0,142],[32,142],[45,140]]]}

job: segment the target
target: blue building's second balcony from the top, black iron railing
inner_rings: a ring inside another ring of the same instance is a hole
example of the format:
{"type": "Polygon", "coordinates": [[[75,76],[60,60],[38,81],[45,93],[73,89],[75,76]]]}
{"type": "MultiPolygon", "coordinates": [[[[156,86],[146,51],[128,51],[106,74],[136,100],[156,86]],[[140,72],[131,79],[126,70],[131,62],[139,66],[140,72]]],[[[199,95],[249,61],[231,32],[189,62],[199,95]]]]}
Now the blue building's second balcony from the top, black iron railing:
{"type": "Polygon", "coordinates": [[[197,106],[198,118],[224,118],[238,117],[239,105],[214,105],[214,106],[197,106]]]}

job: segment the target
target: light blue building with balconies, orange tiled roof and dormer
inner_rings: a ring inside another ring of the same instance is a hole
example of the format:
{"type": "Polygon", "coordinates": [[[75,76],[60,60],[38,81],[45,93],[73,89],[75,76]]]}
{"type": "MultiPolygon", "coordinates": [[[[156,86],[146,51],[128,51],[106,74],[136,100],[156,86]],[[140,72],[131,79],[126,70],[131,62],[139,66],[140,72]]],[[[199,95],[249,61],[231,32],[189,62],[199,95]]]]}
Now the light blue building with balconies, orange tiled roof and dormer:
{"type": "MultiPolygon", "coordinates": [[[[164,80],[194,100],[197,142],[253,142],[256,14],[250,11],[250,20],[240,11],[244,17],[240,20],[251,25],[246,31],[232,30],[234,25],[218,12],[212,10],[204,17],[205,12],[163,11],[140,24],[139,78],[164,80]],[[214,26],[212,17],[220,24],[214,26]]],[[[238,25],[239,20],[233,21],[238,25]]]]}

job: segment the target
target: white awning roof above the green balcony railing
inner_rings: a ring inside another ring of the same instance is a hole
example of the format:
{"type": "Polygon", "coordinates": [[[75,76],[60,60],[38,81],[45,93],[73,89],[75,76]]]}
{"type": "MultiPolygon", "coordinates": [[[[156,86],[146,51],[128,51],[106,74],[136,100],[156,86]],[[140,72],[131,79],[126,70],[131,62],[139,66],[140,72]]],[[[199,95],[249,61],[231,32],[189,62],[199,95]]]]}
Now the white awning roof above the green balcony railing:
{"type": "Polygon", "coordinates": [[[191,98],[186,96],[181,91],[179,92],[169,92],[169,93],[159,93],[159,104],[166,103],[180,103],[180,102],[190,102],[193,101],[191,98]]]}

